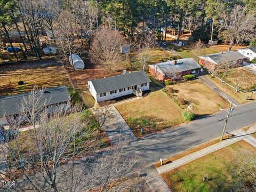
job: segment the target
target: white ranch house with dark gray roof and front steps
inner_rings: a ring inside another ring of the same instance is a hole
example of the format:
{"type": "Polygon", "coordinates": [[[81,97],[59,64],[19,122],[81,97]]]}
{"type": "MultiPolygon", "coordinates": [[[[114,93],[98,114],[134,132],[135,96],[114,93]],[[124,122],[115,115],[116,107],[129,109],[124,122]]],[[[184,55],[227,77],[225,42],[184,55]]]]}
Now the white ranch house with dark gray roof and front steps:
{"type": "Polygon", "coordinates": [[[97,102],[107,101],[129,94],[142,96],[142,91],[149,90],[150,78],[144,71],[126,73],[89,81],[88,88],[97,102]]]}

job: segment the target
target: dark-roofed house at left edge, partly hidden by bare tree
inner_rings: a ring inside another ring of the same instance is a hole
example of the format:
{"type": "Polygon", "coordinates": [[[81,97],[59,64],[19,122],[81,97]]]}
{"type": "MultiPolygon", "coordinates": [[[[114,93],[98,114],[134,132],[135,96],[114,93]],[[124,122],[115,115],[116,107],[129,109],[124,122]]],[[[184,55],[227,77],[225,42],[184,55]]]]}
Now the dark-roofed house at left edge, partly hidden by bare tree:
{"type": "MultiPolygon", "coordinates": [[[[21,103],[29,99],[31,92],[7,95],[0,97],[0,125],[7,124],[11,119],[17,118],[21,113],[21,103]]],[[[68,89],[66,86],[57,86],[44,90],[42,104],[45,107],[54,109],[54,106],[67,103],[69,101],[68,89]],[[46,104],[45,104],[46,103],[46,104]]]]}

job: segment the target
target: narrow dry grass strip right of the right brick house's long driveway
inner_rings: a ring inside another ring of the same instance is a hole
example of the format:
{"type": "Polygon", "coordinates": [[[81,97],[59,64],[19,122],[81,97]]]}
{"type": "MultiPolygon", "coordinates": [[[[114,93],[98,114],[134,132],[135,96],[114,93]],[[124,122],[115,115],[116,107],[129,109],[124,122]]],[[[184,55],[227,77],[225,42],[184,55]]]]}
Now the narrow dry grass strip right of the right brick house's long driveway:
{"type": "MultiPolygon", "coordinates": [[[[226,93],[227,95],[229,95],[229,97],[235,99],[238,103],[245,103],[251,100],[246,100],[247,96],[251,96],[251,92],[247,92],[247,93],[240,93],[240,92],[236,92],[235,89],[233,89],[232,87],[228,86],[225,83],[222,83],[219,79],[217,78],[209,78],[210,81],[217,86],[222,92],[226,93]]],[[[255,94],[252,95],[252,99],[256,99],[255,94]]]]}

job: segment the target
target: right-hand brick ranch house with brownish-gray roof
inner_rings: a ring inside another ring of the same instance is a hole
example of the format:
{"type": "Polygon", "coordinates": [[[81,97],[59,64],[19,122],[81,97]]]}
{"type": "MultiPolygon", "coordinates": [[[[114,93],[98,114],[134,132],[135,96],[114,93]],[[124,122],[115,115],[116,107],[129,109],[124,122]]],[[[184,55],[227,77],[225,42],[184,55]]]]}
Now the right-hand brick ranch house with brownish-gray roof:
{"type": "Polygon", "coordinates": [[[242,66],[246,57],[238,51],[228,51],[222,53],[214,53],[198,57],[198,63],[207,68],[213,69],[216,65],[220,65],[228,62],[236,62],[239,66],[242,66]]]}

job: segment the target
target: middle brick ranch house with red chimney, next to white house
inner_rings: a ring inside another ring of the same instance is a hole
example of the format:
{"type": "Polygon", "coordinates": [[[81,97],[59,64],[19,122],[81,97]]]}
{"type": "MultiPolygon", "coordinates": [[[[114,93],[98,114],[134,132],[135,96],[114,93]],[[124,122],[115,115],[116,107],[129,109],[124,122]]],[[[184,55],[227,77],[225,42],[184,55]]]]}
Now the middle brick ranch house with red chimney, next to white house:
{"type": "Polygon", "coordinates": [[[180,79],[189,74],[198,75],[201,69],[201,66],[192,58],[157,63],[148,67],[149,73],[159,81],[180,79]]]}

